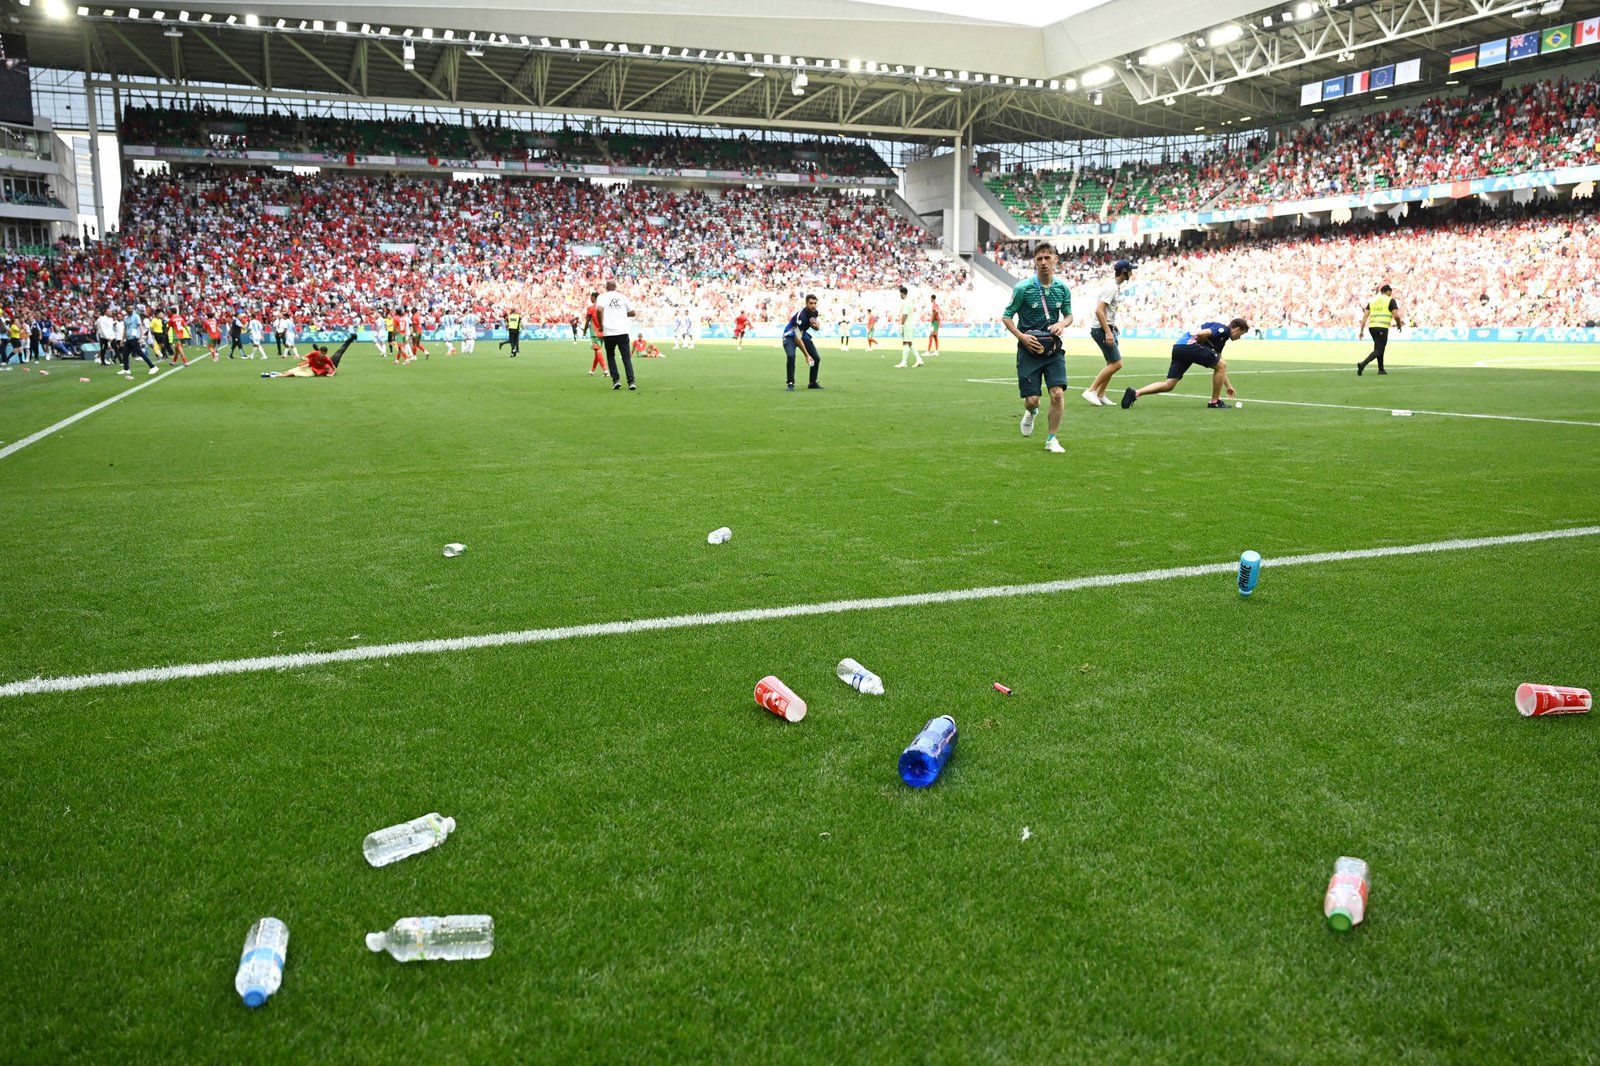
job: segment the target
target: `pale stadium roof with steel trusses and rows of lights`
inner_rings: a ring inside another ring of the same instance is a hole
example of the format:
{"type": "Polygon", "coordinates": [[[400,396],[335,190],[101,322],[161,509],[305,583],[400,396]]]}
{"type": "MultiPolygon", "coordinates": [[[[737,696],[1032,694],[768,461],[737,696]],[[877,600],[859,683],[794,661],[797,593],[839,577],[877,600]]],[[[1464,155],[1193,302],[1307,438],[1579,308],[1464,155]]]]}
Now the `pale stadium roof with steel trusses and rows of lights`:
{"type": "MultiPolygon", "coordinates": [[[[1450,48],[1555,21],[1530,21],[1523,0],[22,2],[35,66],[88,61],[163,91],[978,144],[1254,126],[1294,117],[1304,82],[1416,56],[1442,80],[1450,48]]],[[[1597,11],[1568,3],[1560,19],[1597,11]]]]}

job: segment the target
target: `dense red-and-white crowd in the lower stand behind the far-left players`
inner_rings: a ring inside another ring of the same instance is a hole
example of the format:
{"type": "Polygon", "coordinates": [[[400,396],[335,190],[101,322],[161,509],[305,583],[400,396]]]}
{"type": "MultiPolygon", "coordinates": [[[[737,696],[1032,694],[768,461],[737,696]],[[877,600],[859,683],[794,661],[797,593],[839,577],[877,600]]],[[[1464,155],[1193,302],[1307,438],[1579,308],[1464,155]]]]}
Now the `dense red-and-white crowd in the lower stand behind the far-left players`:
{"type": "Polygon", "coordinates": [[[616,279],[645,322],[680,311],[782,320],[806,291],[829,307],[898,306],[906,283],[965,314],[963,266],[877,197],[814,189],[667,190],[589,181],[286,176],[197,166],[133,178],[122,232],[86,251],[0,266],[10,306],[88,323],[106,306],[330,328],[400,307],[493,323],[566,323],[616,279]]]}

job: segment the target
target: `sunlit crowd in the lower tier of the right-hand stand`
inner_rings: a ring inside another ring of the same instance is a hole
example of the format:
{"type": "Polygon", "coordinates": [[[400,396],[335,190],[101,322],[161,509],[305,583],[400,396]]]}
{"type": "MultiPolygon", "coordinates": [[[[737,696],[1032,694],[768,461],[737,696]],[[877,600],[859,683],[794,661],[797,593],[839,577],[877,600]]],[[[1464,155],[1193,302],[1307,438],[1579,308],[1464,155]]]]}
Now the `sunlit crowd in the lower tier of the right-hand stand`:
{"type": "MultiPolygon", "coordinates": [[[[1022,245],[997,246],[1018,277],[1022,245]]],[[[1600,322],[1600,211],[1560,200],[1491,210],[1413,211],[1315,230],[1235,230],[1222,240],[1064,254],[1062,280],[1093,293],[1118,258],[1139,262],[1128,327],[1187,328],[1243,315],[1254,327],[1349,327],[1382,283],[1414,327],[1582,327],[1600,322]]]]}

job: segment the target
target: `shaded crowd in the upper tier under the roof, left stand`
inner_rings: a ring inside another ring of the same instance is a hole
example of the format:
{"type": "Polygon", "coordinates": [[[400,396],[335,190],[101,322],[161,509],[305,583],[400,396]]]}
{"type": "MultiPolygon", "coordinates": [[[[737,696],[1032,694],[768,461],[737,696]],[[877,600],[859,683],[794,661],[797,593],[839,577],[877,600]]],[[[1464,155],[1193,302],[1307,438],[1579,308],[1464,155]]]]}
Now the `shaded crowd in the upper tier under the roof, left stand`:
{"type": "Polygon", "coordinates": [[[805,173],[843,178],[888,178],[893,171],[877,152],[853,141],[784,141],[707,138],[682,133],[622,133],[571,128],[528,131],[494,117],[470,126],[405,118],[363,120],[290,115],[269,110],[243,114],[195,104],[123,110],[125,144],[203,147],[221,152],[275,150],[326,155],[413,155],[450,160],[539,160],[574,165],[618,163],[662,170],[738,170],[746,173],[805,173]]]}

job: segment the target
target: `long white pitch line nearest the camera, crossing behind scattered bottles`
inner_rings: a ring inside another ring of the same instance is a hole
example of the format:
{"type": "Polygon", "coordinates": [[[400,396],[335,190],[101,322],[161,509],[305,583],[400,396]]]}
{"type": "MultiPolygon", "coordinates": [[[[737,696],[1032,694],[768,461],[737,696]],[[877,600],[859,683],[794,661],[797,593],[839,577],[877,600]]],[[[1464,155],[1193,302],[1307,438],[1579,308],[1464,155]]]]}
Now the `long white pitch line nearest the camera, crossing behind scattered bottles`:
{"type": "MultiPolygon", "coordinates": [[[[1390,547],[1363,547],[1342,552],[1312,552],[1267,559],[1272,570],[1306,567],[1352,559],[1387,559],[1390,555],[1422,555],[1430,552],[1469,551],[1475,547],[1499,547],[1504,544],[1531,544],[1574,536],[1600,535],[1600,525],[1570,530],[1546,530],[1541,533],[1512,533],[1507,536],[1477,536],[1467,539],[1430,541],[1427,544],[1397,544],[1390,547]]],[[[843,615],[850,611],[875,611],[893,607],[930,607],[939,603],[965,603],[971,600],[997,600],[1018,595],[1048,595],[1077,589],[1102,589],[1118,584],[1171,581],[1174,578],[1198,578],[1214,573],[1232,573],[1238,563],[1203,563],[1198,567],[1170,567],[1166,570],[1136,570],[1133,573],[1107,573],[1091,578],[1066,578],[1035,584],[997,584],[978,589],[949,589],[944,592],[915,592],[910,595],[880,595],[864,600],[830,600],[826,603],[795,603],[790,607],[760,607],[741,611],[715,611],[709,615],[669,615],[666,618],[637,618],[632,621],[592,623],[587,626],[558,626],[554,629],[523,629],[518,632],[494,632],[478,637],[448,637],[438,640],[405,640],[400,643],[374,643],[339,651],[296,651],[290,655],[262,655],[250,659],[221,659],[216,663],[186,663],[179,666],[150,666],[134,671],[106,674],[78,674],[74,677],[32,677],[0,685],[0,698],[32,696],[40,693],[80,691],[83,688],[118,688],[149,682],[179,680],[186,677],[218,677],[224,674],[259,674],[266,671],[304,669],[328,663],[360,663],[365,659],[392,659],[408,655],[438,655],[443,651],[472,651],[477,648],[504,648],[525,643],[549,643],[578,637],[614,637],[635,632],[659,632],[667,629],[696,629],[701,626],[731,626],[734,623],[774,621],[782,618],[808,618],[816,615],[843,615]]]]}

